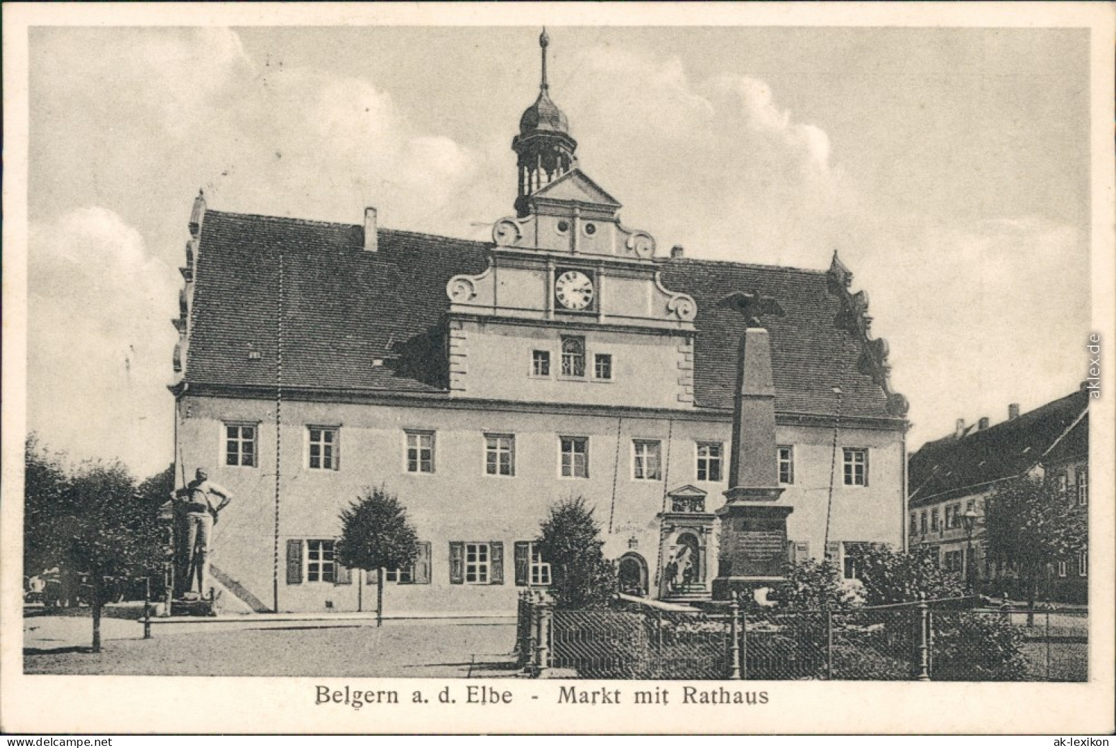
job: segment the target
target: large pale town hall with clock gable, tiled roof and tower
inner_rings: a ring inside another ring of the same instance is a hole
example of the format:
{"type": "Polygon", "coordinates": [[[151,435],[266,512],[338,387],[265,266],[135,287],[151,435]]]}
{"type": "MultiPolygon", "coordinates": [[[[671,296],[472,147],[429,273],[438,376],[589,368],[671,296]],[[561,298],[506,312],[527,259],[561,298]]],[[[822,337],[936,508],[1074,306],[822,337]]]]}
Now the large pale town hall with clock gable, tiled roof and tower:
{"type": "Polygon", "coordinates": [[[373,209],[349,226],[195,201],[176,448],[237,493],[212,562],[248,605],[367,606],[334,540],[381,485],[422,540],[388,574],[395,611],[512,610],[549,582],[531,546],[548,507],[578,495],[626,588],[706,595],[744,324],[719,304],[735,291],[786,313],[764,318],[778,443],[761,459],[793,507],[788,557],[903,547],[906,401],[852,274],[836,255],[828,271],[656,256],[581,171],[540,41],[517,214],[492,242],[383,229],[373,209]],[[680,557],[681,585],[661,572],[680,557]]]}

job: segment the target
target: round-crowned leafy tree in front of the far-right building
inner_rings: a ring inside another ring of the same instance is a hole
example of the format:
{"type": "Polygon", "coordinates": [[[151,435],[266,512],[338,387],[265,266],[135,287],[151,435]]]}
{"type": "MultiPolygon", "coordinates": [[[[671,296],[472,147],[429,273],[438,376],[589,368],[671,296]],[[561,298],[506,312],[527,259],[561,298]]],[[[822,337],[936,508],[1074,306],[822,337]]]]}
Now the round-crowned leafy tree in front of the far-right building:
{"type": "Polygon", "coordinates": [[[1047,565],[1072,558],[1087,539],[1086,508],[1058,490],[1054,480],[1020,476],[984,501],[988,555],[1019,568],[1031,615],[1047,565]]]}

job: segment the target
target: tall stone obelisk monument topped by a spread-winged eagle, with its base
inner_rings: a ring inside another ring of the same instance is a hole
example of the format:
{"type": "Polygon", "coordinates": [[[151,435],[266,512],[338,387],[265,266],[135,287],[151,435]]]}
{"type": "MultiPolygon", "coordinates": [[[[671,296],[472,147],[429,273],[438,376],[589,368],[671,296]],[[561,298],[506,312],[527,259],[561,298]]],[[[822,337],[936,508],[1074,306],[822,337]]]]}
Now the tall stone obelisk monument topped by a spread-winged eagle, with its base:
{"type": "Polygon", "coordinates": [[[793,508],[779,504],[775,433],[775,382],[771,344],[762,315],[781,316],[779,304],[758,294],[733,294],[721,301],[744,316],[740,337],[732,454],[721,519],[718,575],[713,598],[752,596],[782,579],[787,559],[787,516],[793,508]]]}

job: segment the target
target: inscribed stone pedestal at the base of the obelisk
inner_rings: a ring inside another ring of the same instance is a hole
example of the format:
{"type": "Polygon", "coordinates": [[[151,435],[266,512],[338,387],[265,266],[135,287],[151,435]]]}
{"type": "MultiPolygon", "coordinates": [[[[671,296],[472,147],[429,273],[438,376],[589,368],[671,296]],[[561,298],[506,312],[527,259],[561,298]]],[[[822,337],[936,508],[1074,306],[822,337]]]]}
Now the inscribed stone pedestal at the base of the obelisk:
{"type": "Polygon", "coordinates": [[[781,488],[732,488],[721,518],[718,575],[713,600],[751,596],[760,587],[781,582],[787,562],[787,517],[793,507],[772,504],[781,488]]]}

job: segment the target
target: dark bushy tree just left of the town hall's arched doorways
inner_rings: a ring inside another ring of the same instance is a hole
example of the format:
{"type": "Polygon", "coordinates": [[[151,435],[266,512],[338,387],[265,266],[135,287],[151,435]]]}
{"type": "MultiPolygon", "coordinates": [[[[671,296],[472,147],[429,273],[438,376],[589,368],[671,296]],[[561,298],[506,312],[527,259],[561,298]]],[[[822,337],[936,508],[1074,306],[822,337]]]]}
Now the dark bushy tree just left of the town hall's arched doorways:
{"type": "Polygon", "coordinates": [[[616,568],[605,558],[600,527],[584,497],[550,507],[539,530],[539,553],[550,564],[550,592],[559,608],[603,607],[615,597],[616,568]]]}

